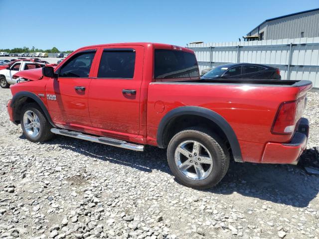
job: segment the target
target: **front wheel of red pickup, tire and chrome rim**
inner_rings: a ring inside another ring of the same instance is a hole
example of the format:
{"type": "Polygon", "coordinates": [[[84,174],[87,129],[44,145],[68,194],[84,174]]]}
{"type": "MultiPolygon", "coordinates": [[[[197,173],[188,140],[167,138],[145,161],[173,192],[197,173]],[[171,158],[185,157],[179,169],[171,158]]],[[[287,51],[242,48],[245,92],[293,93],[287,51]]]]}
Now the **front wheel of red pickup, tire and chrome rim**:
{"type": "Polygon", "coordinates": [[[47,141],[53,136],[51,125],[37,104],[27,104],[22,108],[20,123],[23,134],[32,142],[47,141]]]}

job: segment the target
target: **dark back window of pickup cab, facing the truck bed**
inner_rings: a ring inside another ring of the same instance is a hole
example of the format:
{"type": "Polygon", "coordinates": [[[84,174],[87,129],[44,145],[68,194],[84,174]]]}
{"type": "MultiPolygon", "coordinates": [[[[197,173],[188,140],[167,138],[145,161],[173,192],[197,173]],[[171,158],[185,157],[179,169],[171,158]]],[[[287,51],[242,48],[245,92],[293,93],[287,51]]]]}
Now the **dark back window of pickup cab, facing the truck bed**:
{"type": "Polygon", "coordinates": [[[199,77],[194,54],[176,50],[155,50],[155,79],[188,77],[199,77]]]}

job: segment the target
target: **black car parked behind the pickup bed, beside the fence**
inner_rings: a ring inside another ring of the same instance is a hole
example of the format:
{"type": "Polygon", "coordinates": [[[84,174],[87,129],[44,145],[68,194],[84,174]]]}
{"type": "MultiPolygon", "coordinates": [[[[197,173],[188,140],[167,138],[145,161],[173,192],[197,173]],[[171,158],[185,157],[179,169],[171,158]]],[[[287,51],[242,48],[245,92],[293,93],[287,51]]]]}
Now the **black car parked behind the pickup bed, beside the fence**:
{"type": "Polygon", "coordinates": [[[227,63],[204,74],[201,79],[275,79],[281,80],[280,70],[260,64],[227,63]]]}

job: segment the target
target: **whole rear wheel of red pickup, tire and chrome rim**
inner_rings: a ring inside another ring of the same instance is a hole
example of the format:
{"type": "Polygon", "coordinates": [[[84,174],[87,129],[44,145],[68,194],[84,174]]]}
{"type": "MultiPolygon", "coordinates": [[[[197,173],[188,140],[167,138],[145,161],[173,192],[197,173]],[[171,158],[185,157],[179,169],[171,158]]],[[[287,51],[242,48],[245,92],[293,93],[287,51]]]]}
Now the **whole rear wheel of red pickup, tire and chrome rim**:
{"type": "Polygon", "coordinates": [[[181,184],[207,189],[225,176],[229,152],[220,138],[205,129],[189,128],[175,134],[167,148],[167,161],[181,184]]]}

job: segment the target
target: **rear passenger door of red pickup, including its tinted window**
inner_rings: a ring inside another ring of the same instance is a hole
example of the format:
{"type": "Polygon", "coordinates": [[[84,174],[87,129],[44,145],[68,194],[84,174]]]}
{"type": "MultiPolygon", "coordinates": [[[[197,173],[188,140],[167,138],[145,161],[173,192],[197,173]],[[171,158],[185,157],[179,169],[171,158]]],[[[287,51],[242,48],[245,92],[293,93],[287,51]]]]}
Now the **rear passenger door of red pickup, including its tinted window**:
{"type": "Polygon", "coordinates": [[[89,111],[94,130],[137,137],[143,46],[101,47],[89,92],[89,111]]]}

